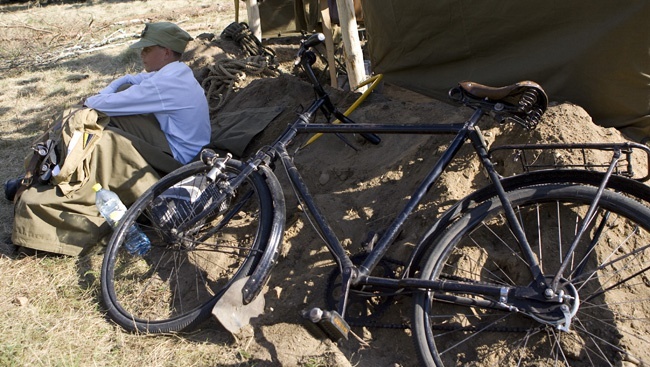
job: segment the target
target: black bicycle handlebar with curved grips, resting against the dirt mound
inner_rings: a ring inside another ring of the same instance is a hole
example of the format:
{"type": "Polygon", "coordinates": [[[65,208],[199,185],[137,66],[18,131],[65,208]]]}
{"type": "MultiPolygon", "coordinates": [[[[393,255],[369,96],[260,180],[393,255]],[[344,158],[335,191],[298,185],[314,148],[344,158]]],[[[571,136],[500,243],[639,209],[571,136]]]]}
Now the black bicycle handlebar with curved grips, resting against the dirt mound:
{"type": "MultiPolygon", "coordinates": [[[[314,85],[314,88],[316,89],[318,95],[320,97],[327,97],[328,103],[325,103],[324,107],[328,109],[330,113],[334,114],[334,116],[337,119],[339,119],[339,121],[342,121],[343,123],[354,123],[354,121],[349,119],[347,116],[337,111],[334,105],[331,102],[329,102],[329,96],[327,92],[325,92],[325,89],[323,89],[323,86],[318,81],[318,78],[316,78],[316,75],[314,74],[314,70],[311,67],[311,65],[316,61],[316,56],[312,51],[310,51],[310,49],[312,47],[320,45],[324,41],[325,41],[325,35],[322,33],[314,33],[311,36],[307,37],[307,39],[305,39],[300,44],[300,48],[298,49],[296,59],[294,60],[294,65],[295,66],[302,65],[302,67],[307,72],[307,76],[309,80],[314,85]]],[[[373,133],[361,133],[360,135],[372,144],[377,145],[381,143],[381,138],[373,133]]]]}

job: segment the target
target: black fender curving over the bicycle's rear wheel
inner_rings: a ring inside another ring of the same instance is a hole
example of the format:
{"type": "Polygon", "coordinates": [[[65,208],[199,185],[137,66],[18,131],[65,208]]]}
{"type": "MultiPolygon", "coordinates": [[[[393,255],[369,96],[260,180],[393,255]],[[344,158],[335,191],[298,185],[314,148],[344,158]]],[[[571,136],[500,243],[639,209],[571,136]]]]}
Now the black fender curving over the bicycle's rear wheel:
{"type": "MultiPolygon", "coordinates": [[[[505,191],[514,189],[543,185],[551,183],[576,183],[588,186],[598,186],[602,183],[604,173],[585,170],[540,170],[535,172],[524,173],[521,175],[511,176],[501,180],[505,191]]],[[[613,175],[610,177],[607,188],[616,191],[622,191],[633,196],[635,199],[643,202],[645,205],[650,203],[650,186],[630,178],[613,175]]],[[[422,239],[415,246],[407,262],[405,276],[413,275],[412,273],[419,267],[420,260],[428,249],[435,243],[436,238],[444,231],[450,223],[457,219],[463,212],[474,208],[477,204],[497,195],[494,186],[489,185],[467,195],[451,206],[443,215],[427,230],[422,239]]]]}

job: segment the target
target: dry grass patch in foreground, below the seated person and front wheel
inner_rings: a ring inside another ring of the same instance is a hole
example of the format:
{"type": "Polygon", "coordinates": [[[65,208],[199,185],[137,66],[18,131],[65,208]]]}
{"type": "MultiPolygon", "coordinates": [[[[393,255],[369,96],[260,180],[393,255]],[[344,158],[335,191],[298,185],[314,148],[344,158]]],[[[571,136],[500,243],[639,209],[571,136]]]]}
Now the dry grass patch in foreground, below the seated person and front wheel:
{"type": "Polygon", "coordinates": [[[98,273],[87,267],[88,261],[0,259],[0,365],[208,366],[245,362],[236,347],[225,345],[227,340],[219,340],[216,334],[145,337],[122,332],[103,315],[97,297],[98,273]]]}

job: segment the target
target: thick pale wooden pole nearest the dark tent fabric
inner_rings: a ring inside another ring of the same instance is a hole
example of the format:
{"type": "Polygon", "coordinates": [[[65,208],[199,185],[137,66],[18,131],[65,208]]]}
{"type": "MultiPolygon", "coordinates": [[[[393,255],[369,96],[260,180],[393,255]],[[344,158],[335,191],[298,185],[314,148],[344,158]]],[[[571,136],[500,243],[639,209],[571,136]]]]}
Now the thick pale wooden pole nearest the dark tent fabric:
{"type": "MultiPolygon", "coordinates": [[[[339,23],[341,23],[341,33],[345,49],[345,66],[348,71],[350,89],[354,89],[366,79],[366,71],[363,67],[363,52],[361,51],[361,42],[359,41],[357,17],[354,15],[354,1],[336,0],[336,5],[339,11],[339,23]]],[[[361,87],[358,90],[365,92],[366,88],[361,87]]]]}

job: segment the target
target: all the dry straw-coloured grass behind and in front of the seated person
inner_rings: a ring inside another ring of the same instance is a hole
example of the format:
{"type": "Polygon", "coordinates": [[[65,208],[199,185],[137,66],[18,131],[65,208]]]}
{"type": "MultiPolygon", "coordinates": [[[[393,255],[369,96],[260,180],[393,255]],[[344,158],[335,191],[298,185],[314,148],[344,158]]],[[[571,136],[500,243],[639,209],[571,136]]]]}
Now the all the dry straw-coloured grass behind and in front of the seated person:
{"type": "MultiPolygon", "coordinates": [[[[140,70],[138,55],[126,47],[132,39],[99,46],[106,39],[139,34],[145,20],[176,22],[192,35],[218,34],[234,21],[232,0],[37,4],[0,6],[1,182],[21,173],[28,147],[55,113],[140,70]]],[[[16,255],[7,244],[12,204],[0,202],[1,366],[255,364],[245,347],[211,328],[182,337],[124,333],[101,305],[101,256],[16,255]]]]}

